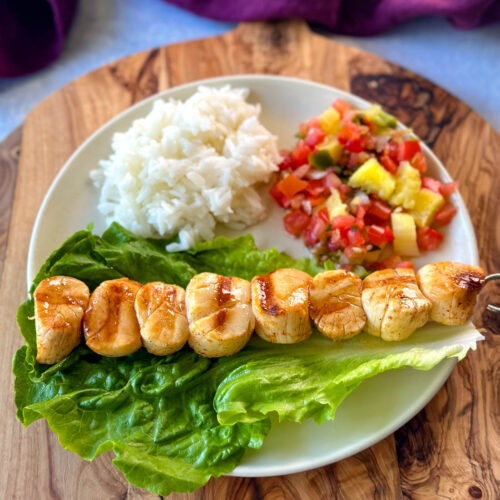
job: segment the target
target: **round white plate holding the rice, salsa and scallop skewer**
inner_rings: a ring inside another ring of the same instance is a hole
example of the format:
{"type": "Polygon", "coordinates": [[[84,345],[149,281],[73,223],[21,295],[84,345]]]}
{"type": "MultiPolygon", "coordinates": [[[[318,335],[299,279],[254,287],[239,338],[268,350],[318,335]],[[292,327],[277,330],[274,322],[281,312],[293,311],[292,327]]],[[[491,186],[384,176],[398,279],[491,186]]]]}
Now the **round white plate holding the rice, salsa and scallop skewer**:
{"type": "MultiPolygon", "coordinates": [[[[125,131],[135,118],[146,115],[154,99],[175,97],[186,99],[197,86],[244,86],[251,90],[250,101],[262,105],[261,120],[279,137],[280,148],[294,143],[298,124],[319,114],[341,97],[357,107],[369,103],[338,89],[304,80],[242,75],[193,82],[152,96],[99,129],[66,162],[50,187],[38,213],[28,253],[28,287],[47,256],[69,235],[94,222],[94,230],[102,232],[104,218],[96,210],[97,190],[89,180],[89,171],[110,152],[111,137],[125,131]]],[[[449,181],[450,176],[436,156],[426,147],[430,175],[449,181]]],[[[438,251],[417,259],[420,266],[427,261],[455,260],[478,263],[474,229],[467,209],[458,194],[453,195],[458,215],[446,229],[438,251]]],[[[286,234],[282,227],[283,211],[269,201],[271,215],[250,229],[261,248],[277,246],[294,257],[305,254],[302,243],[286,234]]],[[[364,382],[340,406],[335,421],[319,426],[313,421],[303,424],[273,425],[264,446],[247,453],[233,471],[234,476],[274,476],[291,474],[341,460],[353,455],[402,426],[436,394],[455,365],[445,360],[433,370],[393,371],[364,382]]]]}

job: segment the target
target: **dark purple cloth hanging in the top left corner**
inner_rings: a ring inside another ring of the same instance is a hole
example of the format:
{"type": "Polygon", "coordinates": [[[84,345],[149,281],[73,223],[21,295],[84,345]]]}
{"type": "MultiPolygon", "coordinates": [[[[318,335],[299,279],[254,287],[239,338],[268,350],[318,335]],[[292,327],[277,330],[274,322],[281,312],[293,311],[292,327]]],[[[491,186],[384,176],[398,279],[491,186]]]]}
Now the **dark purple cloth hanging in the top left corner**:
{"type": "Polygon", "coordinates": [[[0,0],[0,77],[37,71],[59,57],[78,0],[0,0]]]}

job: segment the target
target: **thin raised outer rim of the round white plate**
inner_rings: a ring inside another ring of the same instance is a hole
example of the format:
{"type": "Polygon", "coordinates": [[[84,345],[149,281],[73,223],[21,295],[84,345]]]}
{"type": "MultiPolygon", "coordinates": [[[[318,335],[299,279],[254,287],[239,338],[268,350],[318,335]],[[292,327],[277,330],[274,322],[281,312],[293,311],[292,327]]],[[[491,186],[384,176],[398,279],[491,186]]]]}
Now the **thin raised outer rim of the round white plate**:
{"type": "MultiPolygon", "coordinates": [[[[298,77],[290,77],[290,76],[282,76],[282,75],[266,75],[266,74],[233,74],[233,75],[226,75],[226,76],[217,76],[213,78],[204,78],[201,80],[194,80],[191,82],[186,82],[181,85],[169,87],[165,90],[162,90],[161,92],[157,92],[155,94],[152,94],[151,96],[146,97],[145,99],[142,99],[136,103],[134,103],[132,106],[129,106],[125,108],[124,110],[120,111],[118,114],[113,116],[110,120],[105,122],[103,125],[101,125],[99,128],[97,128],[92,134],[90,134],[87,139],[85,139],[76,149],[75,151],[69,156],[69,158],[64,162],[63,166],[57,173],[57,175],[54,177],[49,189],[47,190],[42,203],[40,204],[40,207],[38,209],[35,222],[33,224],[33,229],[31,232],[30,236],[30,241],[29,241],[29,246],[28,246],[28,255],[27,255],[27,273],[26,273],[26,280],[27,280],[27,289],[29,291],[31,287],[31,283],[36,276],[37,269],[34,269],[34,260],[35,260],[35,248],[36,248],[36,243],[38,239],[38,232],[39,232],[39,226],[41,224],[41,221],[43,219],[43,214],[45,212],[45,209],[49,203],[49,200],[57,188],[58,183],[61,181],[61,179],[64,177],[66,171],[70,168],[71,163],[74,161],[74,159],[80,154],[80,152],[87,147],[89,143],[91,143],[97,136],[99,136],[101,133],[103,133],[105,130],[113,127],[119,119],[123,117],[123,115],[132,113],[135,109],[141,107],[141,106],[147,106],[149,103],[153,102],[156,99],[165,99],[168,98],[171,92],[183,90],[185,88],[189,87],[197,87],[199,85],[210,85],[210,84],[220,84],[222,83],[227,83],[228,85],[234,85],[235,82],[238,82],[239,86],[243,86],[244,83],[241,82],[241,80],[245,81],[255,81],[255,80],[275,80],[275,81],[286,81],[286,82],[294,82],[298,84],[307,84],[312,87],[316,88],[323,88],[325,90],[330,90],[334,91],[337,94],[340,94],[343,96],[346,100],[350,101],[358,101],[362,103],[363,106],[368,106],[370,104],[370,101],[356,95],[350,92],[347,92],[345,90],[341,90],[337,87],[334,87],[332,85],[327,85],[324,83],[319,83],[313,80],[307,80],[303,78],[298,78],[298,77]]],[[[403,123],[401,123],[398,120],[398,125],[405,127],[403,123]]],[[[436,154],[432,151],[432,149],[424,142],[422,141],[422,149],[424,151],[424,154],[427,157],[430,157],[432,161],[438,166],[439,170],[441,171],[441,174],[447,178],[448,181],[451,181],[452,178],[444,166],[444,164],[440,161],[440,159],[436,156],[436,154]]],[[[478,251],[478,246],[477,246],[477,238],[474,230],[474,226],[472,225],[472,221],[470,218],[469,211],[467,210],[467,207],[465,205],[465,202],[461,196],[461,194],[457,191],[456,192],[456,197],[455,197],[455,202],[458,205],[459,210],[462,212],[462,216],[464,217],[464,222],[465,225],[468,226],[468,233],[472,235],[473,237],[473,245],[472,245],[472,264],[477,265],[479,262],[479,251],[478,251]]],[[[443,362],[446,360],[443,360],[443,362]]],[[[398,418],[393,418],[390,422],[388,422],[387,425],[385,425],[382,429],[379,429],[377,432],[370,434],[364,439],[357,440],[354,444],[345,447],[343,453],[336,453],[333,451],[331,454],[323,454],[321,458],[318,458],[316,460],[309,461],[307,465],[276,465],[276,466],[266,466],[266,470],[264,471],[259,471],[258,473],[255,472],[255,467],[254,466],[246,466],[244,464],[238,465],[233,471],[225,474],[227,476],[235,476],[235,477],[269,477],[269,476],[277,476],[277,475],[286,475],[286,474],[294,474],[294,473],[299,473],[299,472],[304,472],[307,470],[315,469],[318,467],[323,467],[328,464],[332,464],[335,462],[338,462],[340,460],[343,460],[347,457],[353,456],[356,453],[359,453],[374,444],[382,441],[385,439],[387,436],[390,434],[394,433],[397,429],[402,427],[404,424],[406,424],[409,420],[411,420],[417,413],[419,413],[425,406],[429,403],[429,401],[437,394],[439,389],[446,383],[447,379],[449,378],[451,372],[453,371],[457,360],[456,358],[447,358],[448,365],[449,366],[442,366],[441,372],[439,373],[439,376],[436,377],[432,384],[427,386],[427,389],[424,393],[424,395],[419,399],[419,404],[417,404],[415,407],[412,408],[412,410],[408,413],[406,412],[401,412],[398,415],[398,418]],[[252,470],[253,469],[253,470],[252,470]]],[[[439,365],[442,365],[441,362],[439,365]]],[[[261,468],[263,468],[261,466],[261,468]]]]}

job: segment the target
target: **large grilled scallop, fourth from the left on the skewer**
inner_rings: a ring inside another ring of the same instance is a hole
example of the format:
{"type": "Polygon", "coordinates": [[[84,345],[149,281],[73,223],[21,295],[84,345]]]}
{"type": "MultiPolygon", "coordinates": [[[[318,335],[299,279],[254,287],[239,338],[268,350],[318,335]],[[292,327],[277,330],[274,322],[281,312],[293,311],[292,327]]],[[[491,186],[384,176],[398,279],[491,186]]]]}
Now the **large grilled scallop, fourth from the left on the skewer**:
{"type": "Polygon", "coordinates": [[[189,345],[207,358],[231,356],[245,347],[255,320],[250,283],[201,273],[186,288],[189,345]]]}

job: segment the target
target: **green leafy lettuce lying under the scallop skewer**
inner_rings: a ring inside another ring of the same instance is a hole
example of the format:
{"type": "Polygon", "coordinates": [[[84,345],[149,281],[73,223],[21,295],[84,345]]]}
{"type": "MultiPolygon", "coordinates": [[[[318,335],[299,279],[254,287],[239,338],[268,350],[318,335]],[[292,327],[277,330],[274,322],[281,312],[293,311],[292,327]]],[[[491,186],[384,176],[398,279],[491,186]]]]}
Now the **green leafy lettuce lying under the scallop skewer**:
{"type": "MultiPolygon", "coordinates": [[[[90,228],[79,231],[47,259],[31,291],[54,275],[74,276],[93,289],[121,276],[186,286],[203,271],[251,279],[283,267],[312,275],[322,270],[276,249],[259,250],[250,235],[219,237],[178,253],[164,250],[169,241],[138,238],[118,224],[102,237],[90,228]]],[[[296,422],[333,419],[363,380],[461,358],[479,338],[467,328],[436,326],[401,343],[360,335],[335,344],[315,334],[283,346],[254,338],[239,354],[219,360],[187,347],[166,357],[140,350],[105,358],[82,344],[46,366],[35,360],[31,299],[17,319],[26,340],[13,360],[19,420],[29,425],[45,418],[61,445],[86,460],[113,450],[113,463],[132,484],[159,495],[193,491],[233,470],[245,450],[262,446],[271,413],[296,422]]]]}

